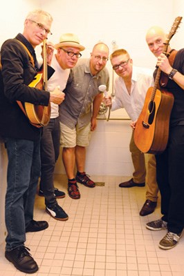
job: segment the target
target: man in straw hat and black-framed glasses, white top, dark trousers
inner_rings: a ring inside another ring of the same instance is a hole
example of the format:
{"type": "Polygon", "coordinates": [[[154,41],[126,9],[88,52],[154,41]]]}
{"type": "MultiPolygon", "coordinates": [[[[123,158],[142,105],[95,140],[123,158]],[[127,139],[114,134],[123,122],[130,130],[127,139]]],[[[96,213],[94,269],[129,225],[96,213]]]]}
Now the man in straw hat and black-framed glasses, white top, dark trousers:
{"type": "MultiPolygon", "coordinates": [[[[78,59],[82,56],[80,51],[84,50],[84,46],[80,45],[80,41],[75,34],[62,34],[59,43],[55,45],[57,53],[53,55],[51,66],[55,69],[55,73],[48,81],[48,91],[59,86],[60,90],[64,90],[68,81],[71,68],[73,68],[78,59]]],[[[63,101],[64,101],[63,93],[63,101]]],[[[57,198],[65,197],[65,193],[54,187],[53,173],[55,162],[59,157],[60,146],[60,125],[59,125],[59,106],[51,103],[51,115],[48,126],[44,127],[41,140],[41,179],[39,186],[39,195],[45,197],[46,212],[54,219],[64,221],[68,219],[68,215],[61,206],[57,204],[57,198]]]]}

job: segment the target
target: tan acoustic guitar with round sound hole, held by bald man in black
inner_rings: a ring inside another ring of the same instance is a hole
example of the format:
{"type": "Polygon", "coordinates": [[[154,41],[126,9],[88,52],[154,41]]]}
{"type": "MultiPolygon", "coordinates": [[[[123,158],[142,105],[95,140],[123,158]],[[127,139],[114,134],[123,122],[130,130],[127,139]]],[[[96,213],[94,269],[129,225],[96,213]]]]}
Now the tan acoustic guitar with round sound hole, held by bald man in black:
{"type": "MultiPolygon", "coordinates": [[[[165,41],[163,52],[167,53],[170,39],[174,36],[182,17],[176,17],[165,41]]],[[[154,87],[147,90],[145,103],[136,122],[134,141],[141,152],[159,154],[167,146],[169,119],[174,104],[174,96],[165,88],[159,90],[161,70],[158,68],[154,87]]]]}

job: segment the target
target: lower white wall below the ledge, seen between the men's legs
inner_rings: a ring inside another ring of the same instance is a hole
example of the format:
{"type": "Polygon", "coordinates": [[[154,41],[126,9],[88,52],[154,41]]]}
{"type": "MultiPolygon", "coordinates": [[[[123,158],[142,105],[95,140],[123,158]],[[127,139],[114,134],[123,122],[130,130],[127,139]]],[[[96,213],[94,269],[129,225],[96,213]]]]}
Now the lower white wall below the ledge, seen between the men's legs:
{"type": "MultiPolygon", "coordinates": [[[[86,148],[86,172],[91,175],[131,175],[133,166],[129,152],[130,120],[98,120],[86,148]]],[[[62,151],[62,149],[61,149],[62,151]]],[[[64,172],[60,154],[55,173],[64,172]]]]}

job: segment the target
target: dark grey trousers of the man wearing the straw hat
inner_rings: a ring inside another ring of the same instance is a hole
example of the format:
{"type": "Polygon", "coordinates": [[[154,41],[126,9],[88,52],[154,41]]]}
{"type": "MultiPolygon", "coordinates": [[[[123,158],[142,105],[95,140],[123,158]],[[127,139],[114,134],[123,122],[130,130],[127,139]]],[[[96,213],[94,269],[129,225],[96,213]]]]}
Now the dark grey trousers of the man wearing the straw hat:
{"type": "Polygon", "coordinates": [[[46,206],[57,204],[54,195],[55,162],[59,157],[60,125],[59,117],[50,119],[47,126],[44,126],[41,139],[41,179],[40,189],[44,192],[46,206]]]}

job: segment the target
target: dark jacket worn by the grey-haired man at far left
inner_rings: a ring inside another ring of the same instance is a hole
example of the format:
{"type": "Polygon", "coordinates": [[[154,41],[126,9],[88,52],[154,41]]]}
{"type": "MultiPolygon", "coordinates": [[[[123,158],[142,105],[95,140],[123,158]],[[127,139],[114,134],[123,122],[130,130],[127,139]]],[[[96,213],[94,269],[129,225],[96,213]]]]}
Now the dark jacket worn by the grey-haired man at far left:
{"type": "MultiPolygon", "coordinates": [[[[22,34],[18,34],[16,39],[8,39],[1,47],[0,136],[35,141],[39,139],[42,128],[30,124],[17,101],[48,106],[50,94],[28,86],[37,75],[37,68],[30,63],[28,53],[17,39],[26,44],[30,52],[35,53],[22,34]]],[[[50,70],[52,75],[54,70],[50,70]]]]}

